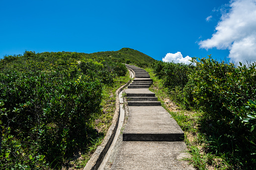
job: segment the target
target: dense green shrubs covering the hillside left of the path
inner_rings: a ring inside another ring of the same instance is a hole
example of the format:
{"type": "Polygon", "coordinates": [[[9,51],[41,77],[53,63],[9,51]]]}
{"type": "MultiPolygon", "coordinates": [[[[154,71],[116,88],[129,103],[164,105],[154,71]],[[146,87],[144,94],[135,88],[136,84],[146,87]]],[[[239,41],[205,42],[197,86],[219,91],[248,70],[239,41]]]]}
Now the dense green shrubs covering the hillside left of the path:
{"type": "MultiPolygon", "coordinates": [[[[127,75],[122,63],[137,62],[127,60],[137,53],[26,51],[1,60],[0,168],[61,168],[75,151],[88,149],[100,135],[93,125],[104,90],[119,86],[115,78],[127,75]]],[[[153,60],[138,55],[142,63],[153,60]]]]}

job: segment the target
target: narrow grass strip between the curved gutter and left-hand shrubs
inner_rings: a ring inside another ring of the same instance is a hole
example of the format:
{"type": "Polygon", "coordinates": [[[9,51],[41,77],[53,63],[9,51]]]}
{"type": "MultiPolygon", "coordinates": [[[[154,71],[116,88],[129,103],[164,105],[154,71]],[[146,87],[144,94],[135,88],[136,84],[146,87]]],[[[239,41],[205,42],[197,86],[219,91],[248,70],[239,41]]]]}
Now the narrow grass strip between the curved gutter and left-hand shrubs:
{"type": "Polygon", "coordinates": [[[77,152],[62,169],[83,169],[89,161],[94,151],[101,145],[109,127],[111,126],[115,113],[116,90],[130,80],[129,72],[126,76],[116,77],[111,86],[105,85],[103,88],[102,111],[94,117],[91,124],[95,128],[96,135],[91,137],[91,144],[82,152],[77,152]]]}

